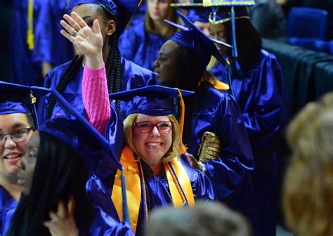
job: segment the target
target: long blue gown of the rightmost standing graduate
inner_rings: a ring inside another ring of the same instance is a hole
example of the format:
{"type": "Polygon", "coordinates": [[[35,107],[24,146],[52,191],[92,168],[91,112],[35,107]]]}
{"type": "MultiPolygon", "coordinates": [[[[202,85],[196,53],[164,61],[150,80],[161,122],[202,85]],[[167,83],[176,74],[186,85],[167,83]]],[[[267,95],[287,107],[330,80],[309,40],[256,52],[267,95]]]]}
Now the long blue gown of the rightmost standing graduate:
{"type": "MultiPolygon", "coordinates": [[[[252,174],[259,207],[256,235],[275,235],[278,145],[287,123],[287,95],[282,71],[275,55],[261,50],[256,68],[233,73],[232,86],[252,145],[256,169],[252,174]],[[258,228],[259,226],[259,228],[258,228]]],[[[226,70],[218,65],[211,72],[228,83],[226,70]]],[[[256,219],[253,219],[256,221],[256,219]]]]}

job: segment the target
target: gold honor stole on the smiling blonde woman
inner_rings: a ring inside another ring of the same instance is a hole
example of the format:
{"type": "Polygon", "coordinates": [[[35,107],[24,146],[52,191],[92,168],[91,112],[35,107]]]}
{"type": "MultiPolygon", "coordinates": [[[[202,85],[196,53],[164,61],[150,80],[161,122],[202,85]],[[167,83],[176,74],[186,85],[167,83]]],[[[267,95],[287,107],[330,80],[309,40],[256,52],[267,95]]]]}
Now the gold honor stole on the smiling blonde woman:
{"type": "MultiPolygon", "coordinates": [[[[138,224],[138,214],[140,211],[141,199],[143,199],[143,214],[145,214],[146,223],[148,221],[147,198],[145,193],[145,178],[142,171],[141,162],[137,162],[131,148],[124,147],[120,163],[124,166],[124,173],[126,176],[126,195],[127,202],[129,203],[129,218],[131,220],[131,227],[136,232],[136,225],[138,224]]],[[[194,206],[195,200],[192,191],[192,185],[188,173],[186,173],[184,166],[178,159],[164,164],[164,170],[168,179],[169,190],[171,192],[172,201],[174,206],[183,206],[188,203],[194,206]]],[[[112,202],[115,204],[115,209],[119,216],[119,220],[123,221],[122,211],[122,180],[120,178],[121,171],[117,170],[115,176],[115,183],[112,189],[112,202]]]]}

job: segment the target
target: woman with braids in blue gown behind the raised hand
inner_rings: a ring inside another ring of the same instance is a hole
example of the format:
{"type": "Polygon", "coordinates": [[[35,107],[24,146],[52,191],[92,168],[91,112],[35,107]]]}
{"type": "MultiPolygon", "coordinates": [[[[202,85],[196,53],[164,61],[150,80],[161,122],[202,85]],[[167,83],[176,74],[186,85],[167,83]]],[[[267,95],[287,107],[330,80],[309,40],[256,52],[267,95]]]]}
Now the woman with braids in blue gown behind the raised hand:
{"type": "MultiPolygon", "coordinates": [[[[133,2],[123,2],[122,4],[133,4],[133,2]]],[[[152,83],[155,83],[155,77],[152,72],[120,56],[118,34],[124,27],[122,20],[124,21],[126,15],[125,13],[120,15],[122,12],[118,11],[114,1],[70,1],[68,8],[80,15],[81,18],[84,18],[90,27],[93,20],[98,19],[100,22],[100,29],[103,35],[103,60],[107,73],[107,89],[109,93],[145,86],[149,79],[152,79],[152,83]]],[[[80,29],[81,27],[74,23],[72,31],[68,33],[75,36],[80,29]]],[[[44,82],[44,86],[51,87],[62,93],[74,108],[81,113],[84,112],[81,97],[81,79],[84,63],[84,56],[77,51],[77,55],[71,62],[55,67],[48,73],[44,82]]],[[[47,119],[61,117],[65,114],[63,109],[55,103],[53,96],[47,96],[39,108],[41,123],[47,119]]],[[[117,110],[120,112],[119,104],[117,104],[117,110]]]]}

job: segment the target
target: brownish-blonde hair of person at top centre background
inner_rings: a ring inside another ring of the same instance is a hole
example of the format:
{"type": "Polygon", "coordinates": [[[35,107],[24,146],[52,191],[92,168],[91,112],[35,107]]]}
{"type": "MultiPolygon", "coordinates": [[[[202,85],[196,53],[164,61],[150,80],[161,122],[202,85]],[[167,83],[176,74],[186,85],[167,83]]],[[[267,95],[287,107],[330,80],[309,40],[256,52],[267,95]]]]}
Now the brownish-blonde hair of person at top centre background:
{"type": "MultiPolygon", "coordinates": [[[[174,1],[170,1],[169,3],[173,3],[174,1]]],[[[166,20],[170,20],[172,22],[177,22],[177,15],[176,15],[176,10],[169,6],[168,13],[166,14],[166,20]]],[[[148,9],[145,11],[145,31],[148,32],[148,34],[158,34],[157,30],[155,29],[155,24],[152,18],[149,15],[148,9]]],[[[172,37],[174,33],[177,32],[176,27],[172,25],[168,25],[168,30],[166,31],[166,34],[163,35],[163,37],[172,37]]]]}

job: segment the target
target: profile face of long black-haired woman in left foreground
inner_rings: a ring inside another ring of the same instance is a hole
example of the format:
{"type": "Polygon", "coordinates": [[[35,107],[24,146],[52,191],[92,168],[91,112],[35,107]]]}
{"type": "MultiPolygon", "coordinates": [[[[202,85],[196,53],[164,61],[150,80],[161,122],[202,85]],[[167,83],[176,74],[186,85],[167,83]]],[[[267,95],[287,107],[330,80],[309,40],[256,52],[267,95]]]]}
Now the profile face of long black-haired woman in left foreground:
{"type": "Polygon", "coordinates": [[[35,131],[27,143],[27,152],[25,152],[25,155],[18,162],[18,185],[22,186],[22,193],[24,195],[30,195],[39,143],[39,131],[35,131]]]}

